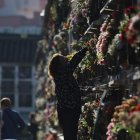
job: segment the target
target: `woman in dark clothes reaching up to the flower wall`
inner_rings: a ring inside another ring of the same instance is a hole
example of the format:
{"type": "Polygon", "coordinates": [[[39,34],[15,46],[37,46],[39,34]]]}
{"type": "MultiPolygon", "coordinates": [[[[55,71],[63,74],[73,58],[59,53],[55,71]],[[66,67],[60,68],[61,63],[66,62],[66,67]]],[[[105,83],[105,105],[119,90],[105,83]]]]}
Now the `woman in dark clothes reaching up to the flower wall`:
{"type": "Polygon", "coordinates": [[[60,54],[55,54],[50,61],[49,73],[55,83],[58,120],[63,130],[64,140],[77,140],[82,91],[73,72],[87,50],[86,47],[81,49],[70,61],[60,54]]]}

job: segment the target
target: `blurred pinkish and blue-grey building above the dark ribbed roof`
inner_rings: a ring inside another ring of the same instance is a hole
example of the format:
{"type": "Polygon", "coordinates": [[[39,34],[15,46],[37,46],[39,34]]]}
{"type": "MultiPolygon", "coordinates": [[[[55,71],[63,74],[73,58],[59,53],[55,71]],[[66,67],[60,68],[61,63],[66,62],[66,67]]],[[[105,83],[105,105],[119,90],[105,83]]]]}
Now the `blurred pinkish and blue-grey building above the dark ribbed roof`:
{"type": "Polygon", "coordinates": [[[40,34],[46,0],[0,0],[0,32],[40,34]]]}

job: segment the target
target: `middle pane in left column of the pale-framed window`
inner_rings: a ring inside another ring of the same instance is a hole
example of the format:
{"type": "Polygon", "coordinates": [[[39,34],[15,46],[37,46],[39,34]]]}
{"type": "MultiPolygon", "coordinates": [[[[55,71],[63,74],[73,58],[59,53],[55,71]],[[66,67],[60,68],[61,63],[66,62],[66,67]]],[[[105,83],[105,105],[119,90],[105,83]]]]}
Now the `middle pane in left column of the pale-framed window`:
{"type": "Polygon", "coordinates": [[[14,93],[15,85],[14,81],[2,81],[1,83],[1,91],[2,93],[14,93]]]}

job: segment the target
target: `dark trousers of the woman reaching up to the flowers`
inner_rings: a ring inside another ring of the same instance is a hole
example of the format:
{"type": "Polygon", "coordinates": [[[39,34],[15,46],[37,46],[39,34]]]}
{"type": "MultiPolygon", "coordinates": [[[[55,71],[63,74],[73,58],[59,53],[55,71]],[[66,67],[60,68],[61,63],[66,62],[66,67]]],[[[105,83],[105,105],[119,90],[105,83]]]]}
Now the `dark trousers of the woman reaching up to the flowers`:
{"type": "Polygon", "coordinates": [[[58,112],[58,119],[63,130],[64,140],[77,140],[80,111],[58,112]]]}

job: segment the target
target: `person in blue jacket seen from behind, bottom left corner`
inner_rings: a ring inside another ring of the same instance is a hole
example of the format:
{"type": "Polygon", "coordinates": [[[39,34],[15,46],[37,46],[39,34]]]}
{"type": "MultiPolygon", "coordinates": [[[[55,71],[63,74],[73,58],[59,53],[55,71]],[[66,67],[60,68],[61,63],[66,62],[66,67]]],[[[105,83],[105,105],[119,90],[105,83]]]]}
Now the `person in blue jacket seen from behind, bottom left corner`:
{"type": "Polygon", "coordinates": [[[2,98],[0,103],[4,122],[1,129],[1,139],[17,140],[18,134],[25,127],[25,122],[18,112],[11,109],[9,98],[2,98]]]}

